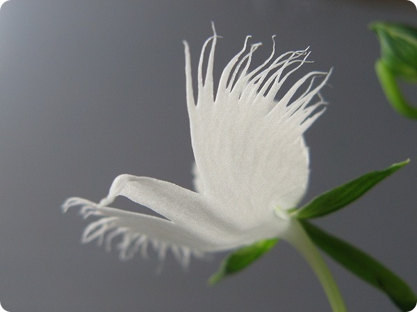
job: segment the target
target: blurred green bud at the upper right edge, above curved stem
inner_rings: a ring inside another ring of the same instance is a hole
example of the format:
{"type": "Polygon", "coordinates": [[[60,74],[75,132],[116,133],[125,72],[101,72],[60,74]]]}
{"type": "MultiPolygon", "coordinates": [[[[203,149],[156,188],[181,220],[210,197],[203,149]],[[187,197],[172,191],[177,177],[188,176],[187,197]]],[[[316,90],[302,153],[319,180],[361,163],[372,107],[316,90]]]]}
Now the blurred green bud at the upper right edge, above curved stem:
{"type": "Polygon", "coordinates": [[[406,80],[417,80],[417,28],[376,22],[370,25],[379,39],[381,58],[390,71],[406,80]]]}

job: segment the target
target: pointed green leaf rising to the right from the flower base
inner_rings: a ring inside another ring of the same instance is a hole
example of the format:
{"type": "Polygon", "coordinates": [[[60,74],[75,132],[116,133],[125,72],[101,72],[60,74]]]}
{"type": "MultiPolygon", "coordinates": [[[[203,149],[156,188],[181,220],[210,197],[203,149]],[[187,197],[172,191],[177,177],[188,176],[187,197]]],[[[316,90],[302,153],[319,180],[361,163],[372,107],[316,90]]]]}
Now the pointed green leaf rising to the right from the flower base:
{"type": "Polygon", "coordinates": [[[366,173],[366,175],[342,184],[340,187],[336,187],[336,189],[322,193],[322,195],[317,196],[300,209],[293,210],[291,215],[298,219],[310,219],[331,214],[357,200],[369,189],[374,187],[375,184],[381,182],[408,163],[409,159],[398,164],[393,164],[389,168],[381,171],[366,173]]]}

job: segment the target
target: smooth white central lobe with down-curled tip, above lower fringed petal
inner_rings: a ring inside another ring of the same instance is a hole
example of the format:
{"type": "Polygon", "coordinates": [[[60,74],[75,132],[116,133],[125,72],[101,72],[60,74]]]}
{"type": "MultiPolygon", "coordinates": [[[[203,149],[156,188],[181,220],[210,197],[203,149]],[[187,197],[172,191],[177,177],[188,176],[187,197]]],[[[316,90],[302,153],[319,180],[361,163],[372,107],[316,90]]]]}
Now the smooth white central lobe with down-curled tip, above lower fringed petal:
{"type": "Polygon", "coordinates": [[[260,224],[270,223],[270,218],[274,216],[270,211],[266,220],[250,218],[244,210],[224,207],[216,198],[206,198],[205,194],[151,177],[119,175],[111,184],[108,196],[99,202],[99,207],[110,205],[117,196],[125,196],[156,211],[189,233],[206,239],[213,248],[243,243],[245,232],[249,233],[260,224]]]}

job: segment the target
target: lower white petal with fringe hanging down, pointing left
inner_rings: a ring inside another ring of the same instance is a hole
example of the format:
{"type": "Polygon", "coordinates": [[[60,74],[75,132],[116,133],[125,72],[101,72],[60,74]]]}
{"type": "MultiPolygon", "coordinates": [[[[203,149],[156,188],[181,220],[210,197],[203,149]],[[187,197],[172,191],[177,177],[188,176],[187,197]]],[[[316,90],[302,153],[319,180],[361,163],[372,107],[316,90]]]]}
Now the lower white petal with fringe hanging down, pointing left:
{"type": "Polygon", "coordinates": [[[165,259],[168,249],[182,266],[188,266],[190,257],[201,258],[205,250],[212,250],[213,246],[199,239],[170,220],[138,214],[111,207],[99,207],[95,202],[83,198],[69,198],[63,204],[63,211],[71,207],[81,206],[80,214],[83,218],[98,216],[99,219],[90,223],[83,232],[82,243],[97,240],[107,251],[112,249],[113,240],[120,238],[115,245],[122,260],[132,259],[136,253],[147,257],[149,243],[158,253],[158,259],[165,259]]]}

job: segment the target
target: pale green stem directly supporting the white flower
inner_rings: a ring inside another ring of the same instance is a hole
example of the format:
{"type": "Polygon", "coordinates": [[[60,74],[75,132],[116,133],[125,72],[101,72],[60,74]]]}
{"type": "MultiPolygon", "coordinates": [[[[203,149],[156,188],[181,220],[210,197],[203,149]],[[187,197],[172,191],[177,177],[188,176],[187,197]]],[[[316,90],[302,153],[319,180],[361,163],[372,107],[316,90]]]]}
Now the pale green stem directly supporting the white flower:
{"type": "Polygon", "coordinates": [[[329,304],[332,306],[333,312],[346,312],[345,302],[336,285],[336,281],[334,281],[332,273],[322,259],[316,245],[311,241],[309,235],[306,234],[299,221],[292,220],[291,227],[284,239],[302,254],[316,273],[327,295],[329,304]]]}

